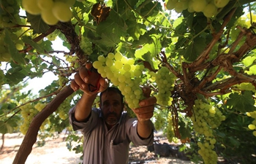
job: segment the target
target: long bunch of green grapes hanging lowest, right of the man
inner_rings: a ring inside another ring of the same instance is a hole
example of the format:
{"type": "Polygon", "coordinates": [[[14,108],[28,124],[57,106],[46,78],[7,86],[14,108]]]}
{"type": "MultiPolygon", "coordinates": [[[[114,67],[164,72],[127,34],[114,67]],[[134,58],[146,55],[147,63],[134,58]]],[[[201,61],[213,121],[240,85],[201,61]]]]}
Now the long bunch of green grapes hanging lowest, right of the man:
{"type": "Polygon", "coordinates": [[[191,120],[195,132],[205,138],[204,143],[198,145],[200,147],[199,155],[203,157],[204,163],[217,163],[217,154],[214,152],[216,140],[213,129],[219,127],[221,122],[225,120],[225,116],[211,104],[195,100],[191,120]]]}

